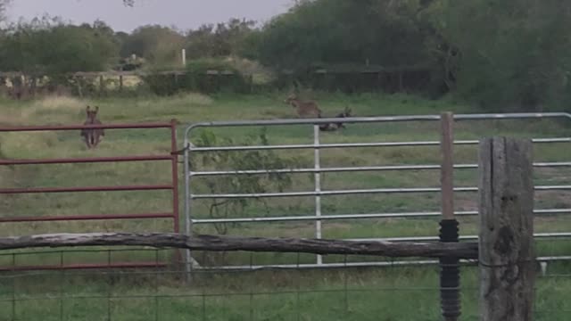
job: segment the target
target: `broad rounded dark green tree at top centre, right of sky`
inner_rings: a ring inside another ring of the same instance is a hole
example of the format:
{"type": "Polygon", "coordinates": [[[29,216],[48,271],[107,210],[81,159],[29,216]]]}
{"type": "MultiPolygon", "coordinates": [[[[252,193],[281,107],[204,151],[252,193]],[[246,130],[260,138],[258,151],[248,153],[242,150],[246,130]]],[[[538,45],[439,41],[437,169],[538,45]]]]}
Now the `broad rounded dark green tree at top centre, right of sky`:
{"type": "Polygon", "coordinates": [[[401,66],[429,62],[415,12],[389,0],[302,1],[256,37],[258,58],[280,68],[314,64],[401,66]],[[394,5],[393,5],[394,6],[394,5]],[[392,9],[392,10],[387,10],[392,9]]]}

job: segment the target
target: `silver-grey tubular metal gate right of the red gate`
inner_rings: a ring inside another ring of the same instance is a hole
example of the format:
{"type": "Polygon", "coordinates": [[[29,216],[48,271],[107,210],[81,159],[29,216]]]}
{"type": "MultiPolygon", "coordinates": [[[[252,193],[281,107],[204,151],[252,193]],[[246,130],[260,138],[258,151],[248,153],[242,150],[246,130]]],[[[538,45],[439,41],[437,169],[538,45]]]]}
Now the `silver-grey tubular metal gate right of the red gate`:
{"type": "MultiPolygon", "coordinates": [[[[459,121],[469,120],[485,120],[485,119],[571,119],[571,114],[556,113],[509,113],[509,114],[457,114],[454,119],[459,121]]],[[[422,116],[393,116],[393,117],[369,117],[369,118],[351,118],[343,119],[348,124],[366,124],[366,123],[392,123],[392,122],[436,122],[440,120],[440,115],[422,115],[422,116]]],[[[391,188],[368,188],[368,189],[346,189],[346,190],[324,190],[320,184],[320,178],[323,173],[340,173],[340,172],[374,172],[374,171],[424,171],[439,170],[440,164],[414,164],[414,165],[391,165],[391,166],[368,166],[368,167],[329,167],[321,166],[320,151],[332,148],[355,148],[355,147],[372,147],[384,148],[394,146],[439,146],[439,141],[410,141],[410,142],[373,142],[373,143],[349,143],[349,144],[321,144],[319,137],[319,124],[327,124],[338,122],[339,119],[276,119],[276,120],[252,120],[252,121],[216,121],[195,123],[186,128],[185,132],[185,231],[186,234],[193,233],[193,226],[212,225],[219,223],[240,223],[240,224],[256,224],[261,222],[315,222],[315,237],[321,238],[322,224],[328,221],[347,220],[347,219],[371,219],[371,218],[431,218],[439,217],[440,211],[426,211],[418,209],[418,211],[406,212],[381,212],[366,214],[343,214],[343,215],[327,215],[321,208],[321,197],[331,195],[351,195],[351,194],[394,194],[394,193],[440,193],[440,186],[418,186],[418,187],[391,187],[391,188]],[[194,138],[193,134],[197,128],[236,128],[236,127],[275,127],[275,126],[293,126],[304,125],[313,127],[313,144],[277,144],[277,145],[233,145],[233,146],[206,146],[196,147],[191,143],[194,138]],[[191,170],[189,160],[194,153],[201,152],[236,152],[236,151],[254,151],[254,150],[313,150],[314,151],[314,167],[305,169],[252,169],[252,170],[191,170]],[[284,192],[284,193],[215,193],[205,194],[196,193],[191,188],[191,183],[195,177],[216,177],[216,176],[240,176],[240,175],[261,175],[268,173],[288,173],[313,174],[315,186],[311,191],[303,192],[284,192]],[[194,216],[193,201],[201,199],[252,199],[252,198],[285,198],[285,197],[315,197],[315,214],[310,216],[278,216],[278,217],[248,217],[248,218],[197,218],[194,216]]],[[[556,144],[571,143],[570,137],[552,137],[552,138],[534,138],[534,144],[556,144]]],[[[456,145],[476,145],[478,140],[456,140],[456,145]]],[[[571,161],[557,162],[535,162],[536,168],[563,168],[571,167],[571,161]]],[[[455,169],[477,169],[477,164],[455,164],[455,169]]],[[[536,185],[537,191],[569,191],[571,185],[536,185]]],[[[456,193],[477,192],[477,187],[455,187],[456,193]]],[[[476,210],[457,211],[457,216],[477,216],[476,210]]],[[[536,215],[556,215],[571,214],[571,209],[537,209],[536,215]]],[[[565,233],[538,233],[535,235],[538,239],[567,238],[571,237],[571,231],[565,233]]],[[[477,235],[461,235],[460,240],[476,240],[477,235]]],[[[364,239],[360,239],[364,240],[364,239]]],[[[371,239],[368,239],[371,240],[371,239]]],[[[378,240],[378,239],[376,239],[378,240]]],[[[426,235],[422,237],[394,237],[383,239],[393,242],[414,242],[414,241],[438,241],[438,236],[426,235]]],[[[560,260],[571,259],[571,257],[544,257],[540,260],[560,260]]],[[[186,269],[191,270],[190,262],[194,259],[191,252],[186,252],[186,269]]],[[[344,263],[325,263],[320,256],[317,256],[315,263],[311,264],[276,264],[276,265],[250,265],[250,266],[215,266],[215,267],[197,267],[203,269],[252,269],[252,268],[342,268],[342,267],[370,267],[370,266],[393,266],[393,265],[410,265],[410,264],[434,264],[436,260],[408,260],[408,261],[390,261],[390,262],[344,262],[344,263]]]]}

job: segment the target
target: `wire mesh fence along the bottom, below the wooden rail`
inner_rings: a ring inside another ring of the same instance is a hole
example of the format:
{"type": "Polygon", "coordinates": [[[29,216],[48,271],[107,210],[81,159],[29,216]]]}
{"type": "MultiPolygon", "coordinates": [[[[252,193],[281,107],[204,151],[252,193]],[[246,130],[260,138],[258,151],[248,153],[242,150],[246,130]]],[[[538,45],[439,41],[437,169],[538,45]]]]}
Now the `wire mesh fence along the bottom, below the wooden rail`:
{"type": "MultiPolygon", "coordinates": [[[[30,256],[59,259],[63,267],[73,255],[99,252],[112,265],[125,251],[2,253],[13,269],[0,274],[0,320],[434,320],[441,313],[438,267],[352,268],[350,255],[340,256],[345,266],[335,269],[256,269],[256,255],[244,253],[250,268],[197,269],[189,283],[178,262],[161,267],[170,249],[137,249],[154,257],[156,268],[18,271],[30,256]]],[[[303,254],[292,255],[301,265],[303,254]]],[[[567,319],[568,264],[541,270],[537,263],[535,320],[567,319]]],[[[476,261],[461,264],[460,284],[447,289],[461,293],[460,319],[479,319],[476,261]]]]}

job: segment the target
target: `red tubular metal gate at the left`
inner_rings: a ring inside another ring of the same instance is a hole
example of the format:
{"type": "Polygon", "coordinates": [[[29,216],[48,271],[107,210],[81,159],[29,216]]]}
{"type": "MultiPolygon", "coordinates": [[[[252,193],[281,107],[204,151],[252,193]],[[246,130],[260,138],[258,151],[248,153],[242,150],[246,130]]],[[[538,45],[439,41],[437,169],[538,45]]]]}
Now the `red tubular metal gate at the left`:
{"type": "MultiPolygon", "coordinates": [[[[48,221],[79,221],[79,220],[113,220],[113,219],[152,219],[171,218],[173,220],[173,232],[178,233],[178,152],[177,152],[177,121],[172,119],[164,123],[142,124],[114,124],[114,125],[73,125],[73,126],[35,126],[35,127],[0,127],[2,132],[38,132],[38,131],[64,131],[80,129],[170,129],[170,153],[144,156],[121,156],[121,157],[95,157],[95,158],[62,158],[62,159],[34,159],[34,160],[2,160],[0,166],[24,166],[24,165],[49,165],[49,164],[79,164],[79,163],[104,163],[104,162],[129,162],[129,161],[170,161],[172,172],[171,181],[168,184],[156,185],[112,185],[112,186],[78,186],[78,187],[29,187],[29,188],[0,188],[0,194],[24,194],[24,193],[85,193],[85,192],[117,192],[117,191],[164,191],[172,192],[172,207],[169,211],[157,213],[124,213],[124,214],[97,214],[97,215],[73,215],[73,216],[39,216],[39,217],[3,217],[0,213],[0,224],[22,222],[48,222],[48,221]]],[[[179,253],[177,252],[177,257],[179,253]]],[[[35,269],[71,269],[71,268],[157,268],[166,263],[153,262],[107,262],[104,264],[72,264],[57,266],[26,266],[26,267],[0,267],[1,270],[35,270],[35,269]]]]}

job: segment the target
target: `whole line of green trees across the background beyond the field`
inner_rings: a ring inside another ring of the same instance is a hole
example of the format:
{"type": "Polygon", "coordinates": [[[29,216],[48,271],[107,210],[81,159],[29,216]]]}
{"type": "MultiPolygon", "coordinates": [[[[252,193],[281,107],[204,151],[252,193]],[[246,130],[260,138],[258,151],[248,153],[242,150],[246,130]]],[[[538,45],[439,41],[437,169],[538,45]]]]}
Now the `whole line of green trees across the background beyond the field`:
{"type": "Polygon", "coordinates": [[[561,109],[571,100],[570,22],[564,0],[298,0],[265,24],[131,33],[44,18],[4,26],[0,70],[165,70],[180,68],[184,48],[189,62],[232,67],[235,57],[296,75],[416,66],[426,70],[417,89],[428,94],[489,110],[561,109]]]}

